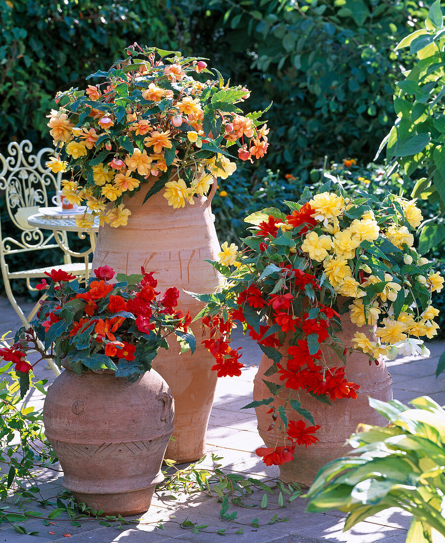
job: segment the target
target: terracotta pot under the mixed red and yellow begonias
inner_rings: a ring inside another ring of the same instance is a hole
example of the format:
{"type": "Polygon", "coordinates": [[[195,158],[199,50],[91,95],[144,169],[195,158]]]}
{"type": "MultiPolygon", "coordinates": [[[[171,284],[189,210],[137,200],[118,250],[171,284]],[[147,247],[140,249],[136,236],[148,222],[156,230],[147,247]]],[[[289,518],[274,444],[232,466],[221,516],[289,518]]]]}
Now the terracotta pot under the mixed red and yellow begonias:
{"type": "MultiPolygon", "coordinates": [[[[342,315],[341,322],[343,332],[337,334],[337,336],[343,341],[345,346],[353,347],[352,338],[354,333],[357,331],[367,332],[367,329],[366,327],[358,328],[351,323],[348,315],[349,313],[342,315]]],[[[375,339],[375,337],[371,337],[371,340],[375,339]]],[[[286,345],[284,345],[284,348],[281,349],[281,351],[285,352],[285,349],[286,345]]],[[[335,357],[333,351],[328,350],[324,352],[327,355],[327,359],[331,359],[335,365],[343,365],[343,363],[335,357]]],[[[281,361],[281,364],[284,366],[285,361],[285,358],[281,361]]],[[[271,364],[271,359],[263,355],[258,374],[256,374],[254,379],[254,400],[262,400],[271,396],[269,389],[262,381],[265,371],[271,364]]],[[[279,466],[280,479],[284,483],[296,482],[309,486],[312,481],[314,481],[318,470],[324,464],[347,454],[350,449],[346,448],[344,443],[350,434],[356,431],[357,426],[361,422],[377,426],[387,426],[387,420],[369,407],[368,403],[368,396],[385,402],[392,399],[392,381],[390,374],[388,374],[385,362],[379,361],[378,366],[374,363],[370,366],[369,359],[365,354],[354,352],[347,357],[346,376],[348,381],[360,384],[358,398],[356,400],[334,400],[331,402],[332,406],[329,406],[319,402],[308,393],[302,390],[299,391],[299,399],[302,402],[303,407],[309,409],[314,416],[316,424],[321,426],[315,434],[319,441],[317,441],[315,445],[308,446],[307,449],[304,446],[297,445],[293,460],[279,466]]],[[[265,378],[267,381],[279,383],[280,385],[283,384],[283,381],[279,381],[278,374],[265,378]]],[[[287,394],[289,394],[289,389],[281,391],[275,402],[275,406],[284,405],[287,394]]],[[[292,399],[298,399],[296,392],[294,392],[291,397],[292,399]]],[[[266,413],[268,409],[269,408],[266,406],[255,408],[256,416],[258,418],[258,431],[266,446],[274,447],[277,443],[277,431],[272,430],[267,432],[267,428],[272,422],[271,415],[266,413]]],[[[297,421],[302,419],[302,416],[291,408],[286,408],[286,415],[289,420],[297,421]]],[[[305,419],[304,421],[306,422],[306,425],[311,424],[305,419]]],[[[289,443],[291,443],[291,441],[289,441],[289,443]]],[[[282,440],[280,440],[280,444],[282,444],[282,440]]]]}

